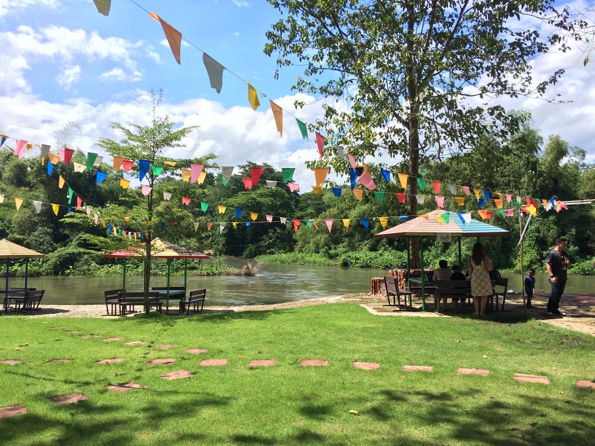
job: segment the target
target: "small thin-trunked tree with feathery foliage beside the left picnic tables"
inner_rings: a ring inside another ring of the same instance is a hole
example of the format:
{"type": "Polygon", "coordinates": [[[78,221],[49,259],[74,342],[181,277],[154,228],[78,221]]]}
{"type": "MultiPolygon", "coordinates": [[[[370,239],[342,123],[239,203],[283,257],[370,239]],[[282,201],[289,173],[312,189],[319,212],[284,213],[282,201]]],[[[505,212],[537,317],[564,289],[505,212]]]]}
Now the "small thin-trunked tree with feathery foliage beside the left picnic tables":
{"type": "MultiPolygon", "coordinates": [[[[188,136],[196,127],[182,127],[177,130],[174,129],[176,125],[168,116],[161,117],[156,114],[156,109],[163,98],[163,90],[159,89],[157,93],[151,89],[151,104],[152,104],[152,121],[150,125],[139,125],[129,123],[127,126],[120,123],[111,123],[111,127],[119,130],[124,134],[124,138],[120,142],[114,140],[101,138],[97,145],[102,147],[106,152],[112,156],[123,156],[125,159],[134,160],[133,172],[139,172],[139,159],[146,159],[151,162],[154,161],[169,161],[169,158],[163,156],[164,150],[169,147],[186,147],[180,141],[188,136]]],[[[153,188],[157,176],[149,169],[146,174],[146,179],[149,181],[148,186],[153,188]]],[[[151,240],[153,238],[153,215],[155,209],[154,189],[151,189],[146,197],[146,221],[141,222],[141,227],[146,224],[145,228],[141,230],[145,232],[145,310],[148,312],[148,293],[151,281],[151,240]]],[[[138,217],[137,217],[138,218],[138,217]]],[[[139,218],[140,219],[140,218],[139,218]]],[[[135,222],[137,224],[139,222],[135,222]]]]}

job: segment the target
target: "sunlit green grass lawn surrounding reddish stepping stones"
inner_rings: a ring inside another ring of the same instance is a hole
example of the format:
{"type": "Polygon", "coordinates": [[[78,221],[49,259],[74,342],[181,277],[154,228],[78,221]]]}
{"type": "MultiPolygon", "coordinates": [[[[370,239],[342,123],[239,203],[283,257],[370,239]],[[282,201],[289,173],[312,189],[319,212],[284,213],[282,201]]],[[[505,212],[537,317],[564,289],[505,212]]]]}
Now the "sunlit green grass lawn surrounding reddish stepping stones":
{"type": "Polygon", "coordinates": [[[546,323],[373,316],[357,304],[268,312],[127,319],[0,318],[0,407],[28,414],[0,419],[3,444],[593,444],[595,338],[546,323]],[[176,344],[168,350],[106,343],[176,344]],[[21,350],[16,350],[20,348],[21,350]],[[183,353],[208,348],[208,353],[183,353]],[[105,358],[123,363],[95,365],[105,358]],[[172,365],[146,366],[157,357],[172,365]],[[51,359],[70,363],[44,365],[51,359]],[[206,358],[227,366],[201,368],[206,358]],[[249,369],[251,359],[277,366],[249,369]],[[305,368],[300,359],[325,359],[305,368]],[[378,362],[359,370],[352,360],[378,362]],[[430,365],[434,372],[403,372],[430,365]],[[489,376],[456,375],[458,367],[489,376]],[[186,369],[191,378],[160,373],[186,369]],[[521,384],[514,372],[547,375],[521,384]],[[148,386],[117,394],[109,384],[148,386]],[[49,397],[90,399],[54,406],[49,397]],[[358,411],[357,414],[349,413],[358,411]]]}

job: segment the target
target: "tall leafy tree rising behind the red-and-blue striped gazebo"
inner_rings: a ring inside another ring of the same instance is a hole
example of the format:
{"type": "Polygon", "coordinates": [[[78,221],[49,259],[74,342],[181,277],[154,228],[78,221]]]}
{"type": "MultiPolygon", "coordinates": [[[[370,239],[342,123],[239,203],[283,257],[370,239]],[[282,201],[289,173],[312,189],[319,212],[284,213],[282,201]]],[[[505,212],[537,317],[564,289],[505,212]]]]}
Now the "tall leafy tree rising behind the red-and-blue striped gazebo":
{"type": "MultiPolygon", "coordinates": [[[[265,53],[279,67],[305,67],[295,89],[331,98],[312,127],[356,158],[396,158],[389,167],[411,175],[411,214],[420,164],[516,130],[518,115],[493,98],[548,99],[563,70],[536,80],[533,59],[567,51],[586,26],[551,0],[268,1],[284,18],[267,32],[265,53]]],[[[336,150],[323,161],[347,171],[336,150]]]]}

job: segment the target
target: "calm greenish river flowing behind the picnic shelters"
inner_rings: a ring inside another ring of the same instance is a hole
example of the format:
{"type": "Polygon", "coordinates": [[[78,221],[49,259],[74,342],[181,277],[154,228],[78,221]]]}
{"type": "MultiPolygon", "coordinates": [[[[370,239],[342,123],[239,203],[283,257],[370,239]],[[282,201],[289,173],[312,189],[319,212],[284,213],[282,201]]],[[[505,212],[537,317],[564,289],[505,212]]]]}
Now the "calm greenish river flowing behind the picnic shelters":
{"type": "MultiPolygon", "coordinates": [[[[243,259],[226,259],[235,267],[243,259]]],[[[369,268],[342,268],[339,266],[280,265],[265,263],[255,277],[242,276],[189,276],[189,290],[206,288],[205,306],[274,304],[322,296],[348,293],[367,293],[372,277],[382,277],[387,271],[369,268]]],[[[505,274],[509,289],[520,289],[519,274],[505,274]]],[[[536,290],[549,291],[546,274],[536,275],[536,290]]],[[[165,286],[165,277],[153,277],[153,286],[165,286]]],[[[174,276],[171,286],[184,284],[184,278],[174,276]]],[[[23,278],[10,278],[11,287],[22,287],[23,278]]],[[[108,277],[37,277],[29,279],[29,287],[46,290],[45,304],[98,304],[104,303],[104,291],[122,287],[120,276],[108,277]]],[[[142,289],[142,277],[126,278],[126,289],[142,289]]],[[[572,276],[566,285],[567,293],[593,293],[595,276],[572,276]]]]}

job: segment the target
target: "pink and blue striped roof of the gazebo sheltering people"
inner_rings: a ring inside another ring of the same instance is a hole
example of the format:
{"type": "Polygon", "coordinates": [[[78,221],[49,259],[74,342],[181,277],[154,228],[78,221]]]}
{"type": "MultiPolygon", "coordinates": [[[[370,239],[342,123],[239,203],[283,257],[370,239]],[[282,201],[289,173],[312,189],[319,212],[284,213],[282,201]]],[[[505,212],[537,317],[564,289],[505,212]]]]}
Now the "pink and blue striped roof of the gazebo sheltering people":
{"type": "Polygon", "coordinates": [[[456,212],[437,209],[424,215],[427,215],[428,218],[418,216],[382,231],[376,234],[376,237],[436,237],[438,234],[450,234],[452,237],[502,237],[508,235],[508,231],[502,228],[475,219],[465,223],[456,212]],[[449,214],[449,222],[440,224],[437,215],[443,215],[444,213],[449,214]]]}

